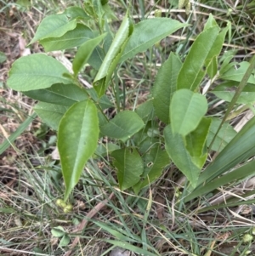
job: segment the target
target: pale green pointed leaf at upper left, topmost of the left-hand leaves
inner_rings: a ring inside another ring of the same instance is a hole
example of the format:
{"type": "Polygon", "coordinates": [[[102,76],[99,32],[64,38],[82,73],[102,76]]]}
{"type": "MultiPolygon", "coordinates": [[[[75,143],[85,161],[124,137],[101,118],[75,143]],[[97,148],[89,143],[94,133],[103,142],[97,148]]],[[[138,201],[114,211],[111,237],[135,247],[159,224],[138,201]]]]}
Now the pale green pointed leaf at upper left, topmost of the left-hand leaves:
{"type": "MultiPolygon", "coordinates": [[[[68,20],[65,14],[53,14],[44,18],[37,28],[31,43],[48,37],[61,37],[77,26],[77,20],[68,20]]],[[[29,44],[31,44],[29,43],[29,44]]]]}

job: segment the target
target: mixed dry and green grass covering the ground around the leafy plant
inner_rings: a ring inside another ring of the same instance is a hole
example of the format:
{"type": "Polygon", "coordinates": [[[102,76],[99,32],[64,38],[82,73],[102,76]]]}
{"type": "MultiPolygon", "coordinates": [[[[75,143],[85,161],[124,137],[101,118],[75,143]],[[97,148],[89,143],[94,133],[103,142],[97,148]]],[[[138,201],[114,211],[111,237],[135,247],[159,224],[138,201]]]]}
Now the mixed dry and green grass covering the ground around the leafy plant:
{"type": "MultiPolygon", "coordinates": [[[[170,13],[173,19],[189,19],[192,26],[178,37],[167,37],[143,58],[130,60],[120,68],[116,84],[121,82],[127,89],[122,97],[122,105],[127,109],[147,99],[158,66],[171,50],[178,50],[181,57],[185,57],[192,38],[202,31],[210,12],[222,27],[226,20],[231,22],[224,50],[236,49],[235,60],[249,60],[255,52],[252,43],[255,42],[255,11],[251,3],[239,3],[235,8],[234,1],[202,1],[195,6],[195,20],[176,11],[177,1],[171,3],[133,1],[133,20],[143,19],[157,8],[163,14],[170,13]]],[[[38,0],[32,1],[31,7],[24,7],[0,1],[0,33],[5,38],[0,43],[0,51],[8,58],[1,64],[0,71],[0,143],[16,131],[14,138],[9,139],[12,146],[7,149],[0,144],[0,255],[66,255],[68,247],[59,246],[63,237],[70,239],[69,246],[74,245],[72,255],[112,256],[110,253],[117,246],[127,250],[120,255],[139,255],[147,250],[162,256],[246,255],[248,250],[252,251],[251,255],[255,254],[252,242],[242,242],[244,235],[252,234],[255,224],[253,207],[245,208],[243,202],[254,197],[253,179],[236,181],[219,187],[212,195],[184,203],[185,181],[171,165],[154,185],[134,196],[131,191],[121,192],[113,185],[116,174],[105,157],[103,162],[88,163],[71,195],[71,212],[65,213],[56,204],[63,197],[65,186],[58,157],[51,155],[55,134],[39,119],[27,120],[34,103],[7,88],[5,81],[10,65],[22,53],[22,48],[15,53],[15,47],[22,41],[20,38],[28,43],[45,15],[57,13],[71,4],[71,1],[38,0]],[[240,198],[241,205],[237,207],[236,199],[240,198]],[[225,202],[229,208],[216,207],[225,202]],[[59,226],[65,231],[56,237],[53,230],[59,226]],[[80,239],[76,242],[77,237],[80,239]]],[[[81,3],[77,1],[77,4],[81,3]]],[[[124,14],[124,1],[111,4],[118,17],[124,14]]],[[[37,44],[31,47],[31,52],[40,51],[42,48],[37,44]]],[[[66,55],[72,58],[72,53],[66,55]]],[[[85,77],[90,81],[93,76],[91,73],[85,77]]],[[[213,102],[213,115],[223,116],[225,108],[213,102]]],[[[241,115],[244,113],[235,117],[235,125],[240,123],[241,115]]]]}

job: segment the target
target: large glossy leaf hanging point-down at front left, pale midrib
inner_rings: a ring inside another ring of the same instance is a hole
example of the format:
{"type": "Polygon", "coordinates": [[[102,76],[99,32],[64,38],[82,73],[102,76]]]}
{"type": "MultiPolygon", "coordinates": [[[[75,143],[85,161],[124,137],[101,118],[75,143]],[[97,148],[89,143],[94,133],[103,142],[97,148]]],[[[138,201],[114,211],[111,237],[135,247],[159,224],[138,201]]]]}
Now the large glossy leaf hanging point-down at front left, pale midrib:
{"type": "Polygon", "coordinates": [[[94,154],[99,139],[99,118],[93,101],[77,102],[59,123],[58,149],[65,179],[66,201],[77,185],[88,158],[94,154]]]}

